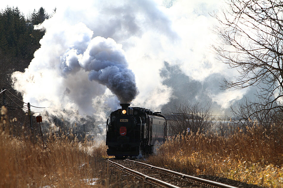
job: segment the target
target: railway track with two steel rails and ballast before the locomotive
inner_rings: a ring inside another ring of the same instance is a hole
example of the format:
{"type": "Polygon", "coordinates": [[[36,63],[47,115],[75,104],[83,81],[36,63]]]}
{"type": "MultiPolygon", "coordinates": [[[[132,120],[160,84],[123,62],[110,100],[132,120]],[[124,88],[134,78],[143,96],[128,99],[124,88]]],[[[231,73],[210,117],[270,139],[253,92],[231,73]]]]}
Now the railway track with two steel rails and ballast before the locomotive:
{"type": "Polygon", "coordinates": [[[120,170],[126,171],[134,176],[138,176],[151,184],[167,187],[167,188],[180,188],[180,187],[214,187],[214,188],[237,188],[234,186],[210,181],[195,176],[170,171],[165,168],[152,166],[146,163],[133,161],[133,160],[116,160],[115,158],[108,159],[112,165],[120,170]],[[115,162],[114,162],[114,161],[115,162]],[[161,180],[162,179],[162,180],[161,180]]]}

